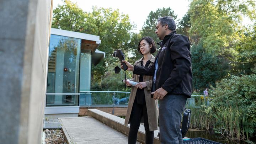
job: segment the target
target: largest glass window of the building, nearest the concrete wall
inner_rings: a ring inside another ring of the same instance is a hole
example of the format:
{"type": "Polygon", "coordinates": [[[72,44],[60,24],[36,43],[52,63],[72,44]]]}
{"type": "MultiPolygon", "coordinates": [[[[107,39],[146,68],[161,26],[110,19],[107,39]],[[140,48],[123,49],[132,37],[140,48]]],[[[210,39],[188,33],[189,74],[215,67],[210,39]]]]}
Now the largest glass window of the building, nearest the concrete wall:
{"type": "Polygon", "coordinates": [[[81,39],[51,35],[46,106],[78,106],[80,49],[81,39]]]}

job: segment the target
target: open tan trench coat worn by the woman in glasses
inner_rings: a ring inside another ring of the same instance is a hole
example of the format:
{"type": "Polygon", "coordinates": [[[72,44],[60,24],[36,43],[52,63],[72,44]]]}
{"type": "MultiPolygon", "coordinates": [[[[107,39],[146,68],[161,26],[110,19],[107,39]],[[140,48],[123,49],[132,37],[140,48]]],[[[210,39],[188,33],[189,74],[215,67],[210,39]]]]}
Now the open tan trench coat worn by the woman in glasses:
{"type": "MultiPolygon", "coordinates": [[[[142,59],[137,60],[134,65],[140,66],[142,63],[142,59]]],[[[150,58],[150,65],[152,65],[155,61],[155,57],[152,55],[150,58]]],[[[133,75],[132,81],[139,82],[139,75],[133,75]]],[[[143,75],[143,81],[146,82],[146,87],[144,88],[145,93],[145,101],[146,101],[146,108],[148,112],[148,122],[149,122],[149,130],[157,130],[158,129],[158,101],[151,98],[151,85],[152,85],[152,76],[143,75]]],[[[132,112],[133,102],[136,96],[137,87],[132,86],[132,90],[130,93],[128,109],[126,113],[126,119],[124,124],[127,126],[130,123],[130,114],[132,112]]]]}

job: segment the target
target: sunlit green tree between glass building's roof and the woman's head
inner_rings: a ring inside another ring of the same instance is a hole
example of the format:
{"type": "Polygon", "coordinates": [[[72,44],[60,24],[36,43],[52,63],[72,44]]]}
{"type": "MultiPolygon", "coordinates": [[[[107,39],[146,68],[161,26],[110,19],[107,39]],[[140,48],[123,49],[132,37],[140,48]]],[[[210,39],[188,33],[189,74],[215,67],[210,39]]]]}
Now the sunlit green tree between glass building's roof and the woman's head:
{"type": "MultiPolygon", "coordinates": [[[[119,10],[93,7],[92,13],[88,16],[88,21],[94,23],[97,28],[96,35],[101,38],[101,45],[98,49],[106,53],[103,62],[92,68],[94,75],[92,82],[94,83],[100,82],[108,68],[113,70],[114,66],[119,63],[117,58],[113,58],[114,50],[122,49],[125,55],[128,54],[127,45],[133,25],[130,23],[128,15],[120,15],[119,10]]],[[[84,30],[86,33],[89,31],[90,29],[84,30]]]]}

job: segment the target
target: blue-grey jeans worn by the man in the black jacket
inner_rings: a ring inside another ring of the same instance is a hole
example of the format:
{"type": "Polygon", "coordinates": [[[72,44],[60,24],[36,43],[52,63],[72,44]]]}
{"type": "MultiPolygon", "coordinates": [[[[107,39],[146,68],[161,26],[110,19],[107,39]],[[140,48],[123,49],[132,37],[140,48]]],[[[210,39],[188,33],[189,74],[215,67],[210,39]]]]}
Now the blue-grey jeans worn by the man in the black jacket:
{"type": "Polygon", "coordinates": [[[183,144],[180,125],[186,101],[185,95],[166,95],[159,100],[161,144],[183,144]]]}

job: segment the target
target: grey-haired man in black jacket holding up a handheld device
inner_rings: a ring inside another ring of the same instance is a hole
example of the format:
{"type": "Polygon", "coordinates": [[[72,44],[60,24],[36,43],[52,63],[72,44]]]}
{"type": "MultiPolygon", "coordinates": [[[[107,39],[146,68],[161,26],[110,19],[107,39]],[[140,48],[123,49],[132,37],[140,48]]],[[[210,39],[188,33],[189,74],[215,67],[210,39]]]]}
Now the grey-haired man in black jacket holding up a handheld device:
{"type": "Polygon", "coordinates": [[[151,94],[158,99],[161,144],[182,144],[182,112],[192,93],[192,66],[188,37],[176,34],[175,21],[168,16],[157,20],[156,31],[161,46],[155,63],[140,67],[126,63],[138,75],[153,75],[151,94]]]}

